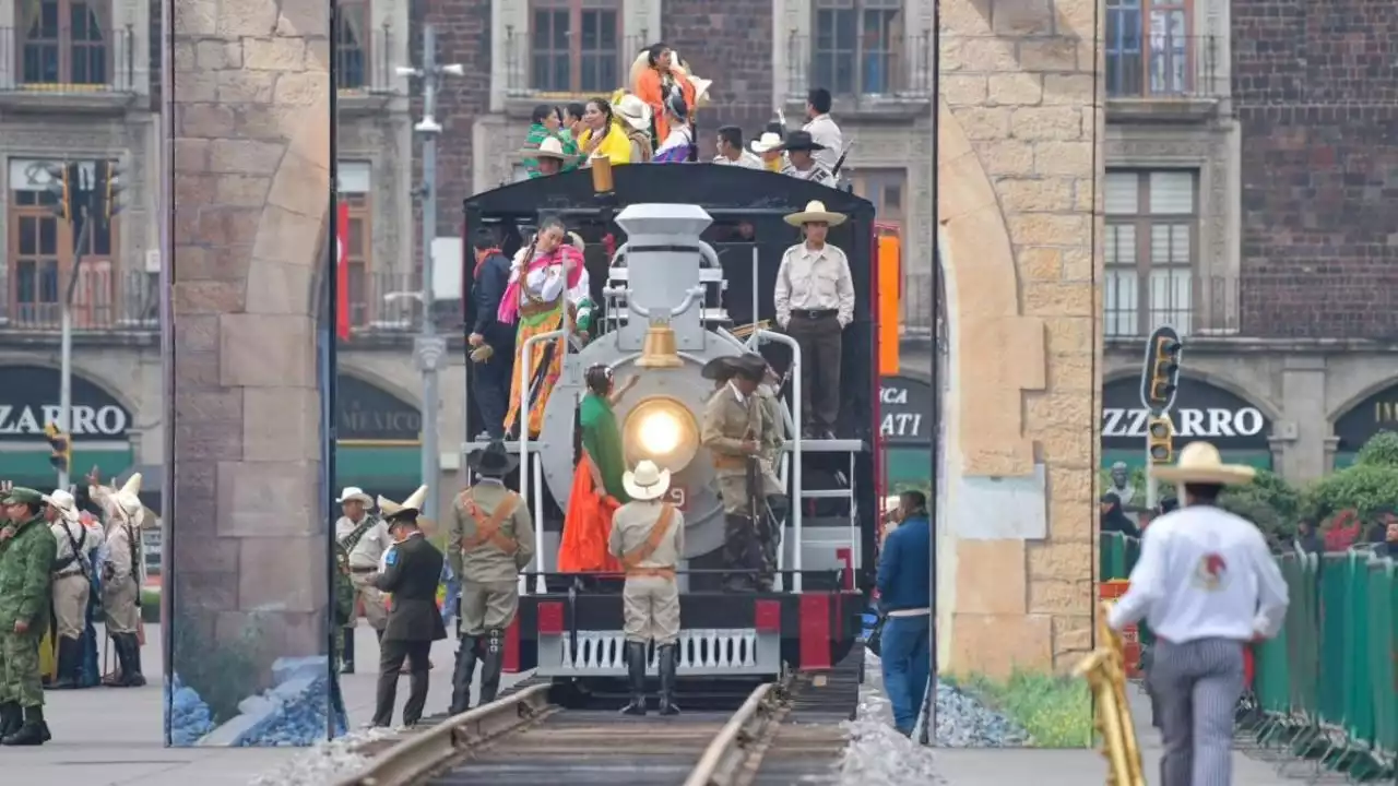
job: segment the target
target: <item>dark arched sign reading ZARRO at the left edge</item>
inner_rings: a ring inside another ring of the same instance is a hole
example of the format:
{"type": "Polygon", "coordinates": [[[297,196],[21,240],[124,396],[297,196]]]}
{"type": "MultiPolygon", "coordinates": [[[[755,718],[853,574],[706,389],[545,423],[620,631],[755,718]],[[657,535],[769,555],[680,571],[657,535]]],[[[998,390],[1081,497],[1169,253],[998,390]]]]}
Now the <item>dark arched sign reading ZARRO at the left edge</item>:
{"type": "MultiPolygon", "coordinates": [[[[62,375],[46,366],[0,366],[0,442],[43,439],[43,427],[59,425],[62,375]]],[[[122,441],[131,427],[131,413],[106,390],[73,376],[74,441],[122,441]]]]}

